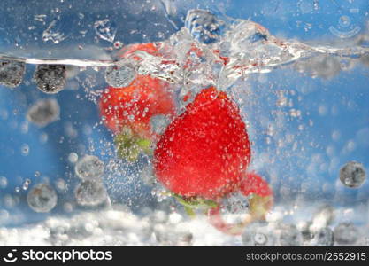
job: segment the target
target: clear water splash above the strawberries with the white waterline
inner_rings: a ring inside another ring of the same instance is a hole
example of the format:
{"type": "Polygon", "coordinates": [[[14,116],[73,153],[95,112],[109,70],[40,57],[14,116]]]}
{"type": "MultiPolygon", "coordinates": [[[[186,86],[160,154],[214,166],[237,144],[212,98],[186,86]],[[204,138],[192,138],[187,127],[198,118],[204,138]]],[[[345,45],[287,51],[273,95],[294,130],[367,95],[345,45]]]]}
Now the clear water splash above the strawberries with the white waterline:
{"type": "MultiPolygon", "coordinates": [[[[203,10],[189,11],[185,27],[157,43],[157,48],[157,55],[138,50],[128,56],[138,74],[150,74],[185,87],[216,85],[220,90],[227,89],[239,78],[247,79],[249,74],[269,73],[286,66],[329,78],[342,70],[340,59],[364,62],[369,56],[369,49],[363,46],[338,48],[281,40],[253,21],[220,20],[203,10]]],[[[0,54],[0,60],[105,67],[119,66],[120,59],[35,59],[0,54]]]]}

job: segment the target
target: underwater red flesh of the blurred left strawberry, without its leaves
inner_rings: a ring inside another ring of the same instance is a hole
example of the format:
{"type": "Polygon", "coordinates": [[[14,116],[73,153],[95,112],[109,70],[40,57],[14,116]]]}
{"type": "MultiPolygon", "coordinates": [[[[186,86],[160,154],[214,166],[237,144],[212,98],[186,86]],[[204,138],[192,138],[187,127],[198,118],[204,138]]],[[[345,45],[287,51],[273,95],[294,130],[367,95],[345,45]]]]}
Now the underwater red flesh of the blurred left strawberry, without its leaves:
{"type": "Polygon", "coordinates": [[[173,115],[174,102],[166,82],[139,75],[125,88],[108,87],[100,98],[100,113],[114,133],[127,126],[142,137],[152,137],[151,117],[173,115]]]}

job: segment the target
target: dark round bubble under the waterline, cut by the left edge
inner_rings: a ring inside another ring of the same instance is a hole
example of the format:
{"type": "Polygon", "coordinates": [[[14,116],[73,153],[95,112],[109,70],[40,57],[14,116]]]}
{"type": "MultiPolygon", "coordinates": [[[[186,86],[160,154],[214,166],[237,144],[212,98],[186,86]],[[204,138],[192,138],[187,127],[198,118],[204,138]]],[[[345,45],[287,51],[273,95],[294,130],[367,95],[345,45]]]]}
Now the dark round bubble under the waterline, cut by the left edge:
{"type": "Polygon", "coordinates": [[[26,64],[13,60],[0,60],[0,84],[9,88],[17,87],[23,80],[26,64]]]}

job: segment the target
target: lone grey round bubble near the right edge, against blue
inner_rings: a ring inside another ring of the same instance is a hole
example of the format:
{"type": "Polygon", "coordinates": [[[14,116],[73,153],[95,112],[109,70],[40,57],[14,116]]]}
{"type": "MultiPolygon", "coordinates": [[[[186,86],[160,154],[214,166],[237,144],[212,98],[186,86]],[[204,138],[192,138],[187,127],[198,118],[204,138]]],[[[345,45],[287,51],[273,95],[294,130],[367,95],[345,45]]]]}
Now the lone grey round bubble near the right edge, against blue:
{"type": "Polygon", "coordinates": [[[340,180],[347,187],[358,188],[364,184],[365,178],[365,168],[359,162],[349,161],[340,169],[340,180]]]}

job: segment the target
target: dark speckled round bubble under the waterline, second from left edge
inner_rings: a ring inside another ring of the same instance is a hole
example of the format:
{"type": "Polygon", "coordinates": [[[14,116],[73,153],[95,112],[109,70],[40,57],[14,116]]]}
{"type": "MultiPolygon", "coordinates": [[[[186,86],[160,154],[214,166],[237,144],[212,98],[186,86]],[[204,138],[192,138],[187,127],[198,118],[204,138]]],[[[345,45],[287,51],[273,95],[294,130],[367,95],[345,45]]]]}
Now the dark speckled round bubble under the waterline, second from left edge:
{"type": "Polygon", "coordinates": [[[64,65],[38,65],[34,74],[37,88],[42,92],[54,94],[65,88],[66,67],[64,65]]]}

